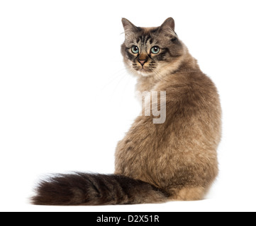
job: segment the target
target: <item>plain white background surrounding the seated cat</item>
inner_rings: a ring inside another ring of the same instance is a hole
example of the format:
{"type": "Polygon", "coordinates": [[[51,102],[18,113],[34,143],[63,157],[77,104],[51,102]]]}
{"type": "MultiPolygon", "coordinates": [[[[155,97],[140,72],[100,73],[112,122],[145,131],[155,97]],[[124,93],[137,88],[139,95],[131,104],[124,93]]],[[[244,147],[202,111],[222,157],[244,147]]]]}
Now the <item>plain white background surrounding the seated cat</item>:
{"type": "Polygon", "coordinates": [[[1,211],[256,210],[254,1],[0,1],[1,211]],[[45,174],[112,173],[140,112],[124,69],[121,18],[176,32],[216,83],[220,175],[204,201],[47,207],[28,198],[45,174]]]}

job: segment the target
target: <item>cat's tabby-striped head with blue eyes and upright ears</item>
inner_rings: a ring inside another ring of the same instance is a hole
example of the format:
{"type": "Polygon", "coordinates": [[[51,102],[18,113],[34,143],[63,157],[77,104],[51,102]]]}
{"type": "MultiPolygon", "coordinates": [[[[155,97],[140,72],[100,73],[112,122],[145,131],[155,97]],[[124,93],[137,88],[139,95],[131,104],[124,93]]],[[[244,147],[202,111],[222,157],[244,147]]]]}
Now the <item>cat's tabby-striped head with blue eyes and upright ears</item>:
{"type": "Polygon", "coordinates": [[[121,46],[123,59],[138,76],[157,76],[182,56],[183,46],[174,32],[174,20],[168,18],[158,28],[139,28],[123,18],[126,40],[121,46]]]}

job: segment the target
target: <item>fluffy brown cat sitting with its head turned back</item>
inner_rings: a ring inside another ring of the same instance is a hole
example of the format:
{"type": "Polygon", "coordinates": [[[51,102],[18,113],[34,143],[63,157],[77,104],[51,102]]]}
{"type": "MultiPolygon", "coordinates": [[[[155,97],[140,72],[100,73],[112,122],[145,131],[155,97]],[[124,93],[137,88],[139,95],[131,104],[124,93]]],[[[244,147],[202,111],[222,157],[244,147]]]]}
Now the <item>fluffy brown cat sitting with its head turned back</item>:
{"type": "Polygon", "coordinates": [[[174,19],[157,28],[136,27],[126,18],[122,23],[124,64],[140,93],[165,91],[166,119],[153,124],[152,114],[141,114],[118,142],[114,174],[57,174],[38,184],[35,205],[201,200],[218,175],[218,91],[179,40],[174,19]]]}

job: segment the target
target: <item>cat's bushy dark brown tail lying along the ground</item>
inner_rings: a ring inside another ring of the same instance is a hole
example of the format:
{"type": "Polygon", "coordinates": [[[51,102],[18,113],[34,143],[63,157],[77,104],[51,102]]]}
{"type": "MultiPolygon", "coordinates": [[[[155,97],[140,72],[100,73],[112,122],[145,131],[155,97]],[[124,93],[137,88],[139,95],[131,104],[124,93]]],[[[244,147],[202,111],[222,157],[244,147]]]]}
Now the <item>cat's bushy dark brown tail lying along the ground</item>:
{"type": "Polygon", "coordinates": [[[96,206],[163,203],[169,195],[151,184],[122,175],[60,174],[40,182],[35,205],[96,206]]]}

